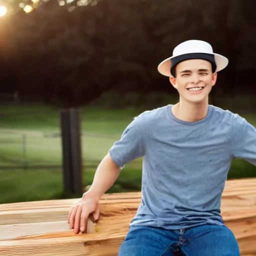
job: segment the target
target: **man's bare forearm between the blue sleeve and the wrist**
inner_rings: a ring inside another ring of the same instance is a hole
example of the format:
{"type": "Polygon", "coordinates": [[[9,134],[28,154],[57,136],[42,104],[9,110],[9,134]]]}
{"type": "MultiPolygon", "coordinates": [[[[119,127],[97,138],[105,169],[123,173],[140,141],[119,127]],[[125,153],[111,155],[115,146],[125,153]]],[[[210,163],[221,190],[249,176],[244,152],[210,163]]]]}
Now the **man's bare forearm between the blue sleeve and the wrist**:
{"type": "Polygon", "coordinates": [[[114,183],[120,173],[120,167],[111,159],[109,153],[101,160],[94,174],[89,190],[84,194],[99,199],[114,183]]]}

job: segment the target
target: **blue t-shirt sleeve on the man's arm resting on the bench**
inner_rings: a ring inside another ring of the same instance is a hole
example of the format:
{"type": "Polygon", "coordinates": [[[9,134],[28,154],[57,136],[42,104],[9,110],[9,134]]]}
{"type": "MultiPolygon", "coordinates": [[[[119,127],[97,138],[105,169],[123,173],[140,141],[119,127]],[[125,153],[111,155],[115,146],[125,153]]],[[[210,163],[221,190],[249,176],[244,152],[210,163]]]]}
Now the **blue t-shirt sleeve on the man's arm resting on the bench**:
{"type": "Polygon", "coordinates": [[[121,168],[127,163],[144,155],[144,128],[141,117],[135,117],[124,129],[119,140],[109,149],[112,160],[121,168]]]}

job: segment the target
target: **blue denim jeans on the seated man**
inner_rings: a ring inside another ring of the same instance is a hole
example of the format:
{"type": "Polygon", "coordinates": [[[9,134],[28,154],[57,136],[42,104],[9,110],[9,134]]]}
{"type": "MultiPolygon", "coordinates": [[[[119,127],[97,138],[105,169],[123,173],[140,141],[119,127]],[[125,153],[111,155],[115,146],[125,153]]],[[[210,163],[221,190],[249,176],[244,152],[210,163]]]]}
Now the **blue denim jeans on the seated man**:
{"type": "Polygon", "coordinates": [[[240,256],[238,243],[226,226],[201,225],[167,230],[130,226],[118,256],[240,256]]]}

